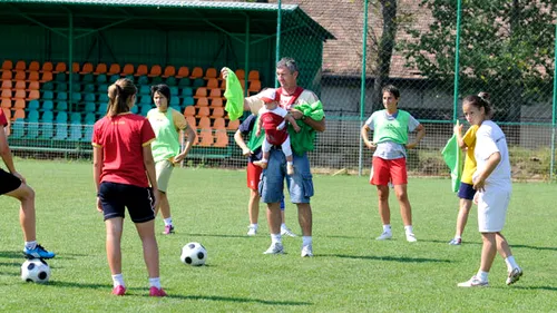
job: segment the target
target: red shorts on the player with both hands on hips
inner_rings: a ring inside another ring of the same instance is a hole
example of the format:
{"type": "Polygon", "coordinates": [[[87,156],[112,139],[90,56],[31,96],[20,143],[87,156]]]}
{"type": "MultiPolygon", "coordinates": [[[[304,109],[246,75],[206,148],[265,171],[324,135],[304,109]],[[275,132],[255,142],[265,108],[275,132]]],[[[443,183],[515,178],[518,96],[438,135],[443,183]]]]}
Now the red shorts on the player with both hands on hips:
{"type": "Polygon", "coordinates": [[[389,182],[393,185],[407,185],[407,159],[383,159],[373,157],[370,175],[371,185],[387,186],[389,182]]]}

